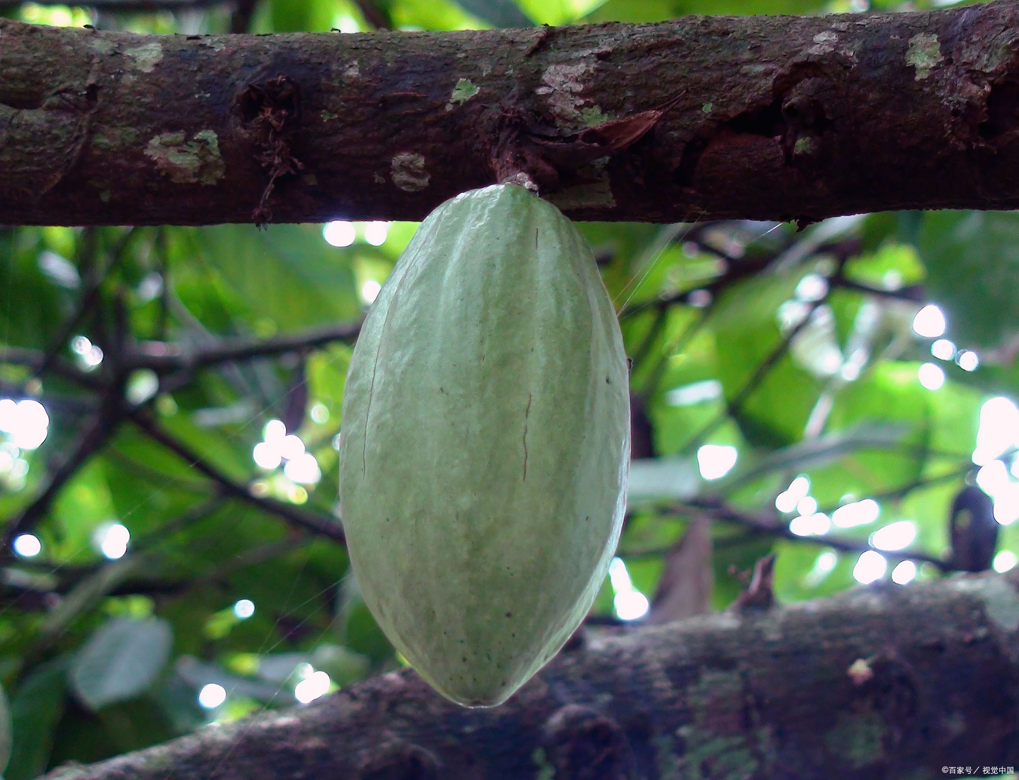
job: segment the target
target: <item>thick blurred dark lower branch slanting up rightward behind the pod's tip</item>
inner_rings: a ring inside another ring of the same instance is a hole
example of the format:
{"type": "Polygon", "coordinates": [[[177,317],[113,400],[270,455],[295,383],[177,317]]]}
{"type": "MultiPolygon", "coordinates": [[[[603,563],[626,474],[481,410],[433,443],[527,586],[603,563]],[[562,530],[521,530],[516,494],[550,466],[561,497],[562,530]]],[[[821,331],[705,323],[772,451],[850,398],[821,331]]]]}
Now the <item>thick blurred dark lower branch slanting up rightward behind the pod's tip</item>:
{"type": "Polygon", "coordinates": [[[50,780],[932,778],[1019,765],[1019,576],[692,618],[468,710],[410,670],[50,780]]]}

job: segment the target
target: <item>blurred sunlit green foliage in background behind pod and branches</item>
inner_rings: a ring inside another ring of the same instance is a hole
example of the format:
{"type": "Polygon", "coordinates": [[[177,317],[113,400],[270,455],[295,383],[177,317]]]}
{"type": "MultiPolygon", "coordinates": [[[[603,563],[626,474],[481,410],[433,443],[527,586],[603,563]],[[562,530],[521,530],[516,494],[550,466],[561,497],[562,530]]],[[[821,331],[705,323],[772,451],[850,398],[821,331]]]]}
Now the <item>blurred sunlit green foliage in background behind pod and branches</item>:
{"type": "MultiPolygon", "coordinates": [[[[375,0],[370,8],[368,15],[393,27],[450,30],[860,11],[866,3],[375,0]]],[[[264,0],[252,30],[369,30],[364,10],[350,0],[264,0]]],[[[219,6],[178,15],[34,4],[7,11],[40,23],[137,32],[223,32],[230,23],[219,6]]],[[[388,225],[381,241],[380,226],[354,228],[345,246],[330,245],[319,225],[141,228],[129,237],[123,228],[0,228],[0,348],[52,349],[77,311],[85,266],[97,258],[109,270],[74,330],[90,343],[109,341],[117,312],[136,341],[195,348],[356,321],[415,226],[388,225]]],[[[776,497],[804,476],[809,497],[827,515],[865,498],[880,505],[879,519],[833,536],[864,544],[877,527],[908,519],[916,530],[910,551],[944,554],[948,507],[972,477],[981,404],[1019,395],[1012,295],[1019,216],[877,214],[803,233],[743,222],[582,230],[601,261],[634,359],[633,389],[653,445],[642,454],[675,458],[677,473],[693,473],[698,493],[687,499],[709,497],[787,523],[795,513],[777,512],[776,497]],[[903,292],[913,285],[922,285],[922,300],[903,292]],[[933,357],[933,339],[913,332],[927,300],[947,314],[946,338],[979,354],[975,370],[952,355],[933,357]],[[927,364],[945,375],[936,389],[920,380],[927,364]],[[877,438],[868,440],[864,430],[877,438]],[[700,480],[694,464],[705,444],[735,447],[737,467],[700,480]]],[[[222,475],[328,516],[338,501],[333,437],[350,350],[336,341],[217,365],[145,405],[222,475]],[[321,480],[299,485],[256,464],[254,448],[272,420],[285,420],[303,440],[321,480]]],[[[88,352],[68,344],[57,344],[57,355],[87,367],[88,352]]],[[[0,397],[30,396],[44,403],[50,426],[42,447],[17,451],[16,461],[0,457],[0,516],[8,519],[33,500],[95,413],[95,397],[68,377],[47,374],[40,382],[23,363],[0,363],[0,397]]],[[[620,555],[633,587],[649,597],[662,553],[693,516],[685,507],[682,500],[631,507],[620,555]]],[[[0,681],[9,700],[0,707],[0,758],[8,709],[13,730],[7,780],[141,747],[211,719],[292,705],[312,669],[326,671],[335,687],[401,663],[347,575],[341,547],[220,496],[193,463],[130,425],[76,470],[34,533],[41,552],[7,565],[0,583],[0,681]],[[126,554],[113,562],[99,534],[110,523],[130,534],[126,554]],[[118,652],[97,659],[97,648],[114,635],[118,652]],[[165,654],[153,650],[164,636],[165,654]],[[200,706],[200,692],[216,706],[200,706]]],[[[780,600],[816,598],[856,581],[859,553],[822,540],[776,539],[727,522],[716,522],[713,534],[715,608],[739,594],[734,572],[769,552],[777,553],[780,600]]],[[[1003,526],[999,550],[1019,553],[1015,526],[1003,526]]],[[[899,560],[890,554],[892,565],[899,560]]],[[[929,563],[918,568],[920,578],[937,575],[929,563]]],[[[595,612],[612,612],[607,582],[595,612]]]]}

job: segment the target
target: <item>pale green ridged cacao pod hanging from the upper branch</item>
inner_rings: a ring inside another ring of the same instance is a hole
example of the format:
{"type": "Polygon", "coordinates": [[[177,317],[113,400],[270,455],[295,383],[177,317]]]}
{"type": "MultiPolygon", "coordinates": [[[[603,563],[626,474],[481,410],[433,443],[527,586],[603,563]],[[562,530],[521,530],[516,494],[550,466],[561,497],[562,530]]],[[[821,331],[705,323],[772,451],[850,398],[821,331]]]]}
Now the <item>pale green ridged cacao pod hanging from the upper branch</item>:
{"type": "Polygon", "coordinates": [[[351,563],[393,646],[460,704],[500,704],[584,619],[619,541],[626,354],[591,250],[515,184],[418,228],[343,396],[351,563]]]}

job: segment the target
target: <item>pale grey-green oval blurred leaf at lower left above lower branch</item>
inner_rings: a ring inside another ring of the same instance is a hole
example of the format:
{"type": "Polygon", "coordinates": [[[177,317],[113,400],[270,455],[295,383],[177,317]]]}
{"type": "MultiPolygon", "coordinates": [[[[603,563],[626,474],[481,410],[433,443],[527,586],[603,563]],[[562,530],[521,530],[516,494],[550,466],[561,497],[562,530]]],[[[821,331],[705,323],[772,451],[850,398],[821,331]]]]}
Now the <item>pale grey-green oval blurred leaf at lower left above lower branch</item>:
{"type": "Polygon", "coordinates": [[[172,642],[169,623],[157,617],[108,620],[71,661],[71,690],[93,711],[133,699],[155,682],[172,642]]]}

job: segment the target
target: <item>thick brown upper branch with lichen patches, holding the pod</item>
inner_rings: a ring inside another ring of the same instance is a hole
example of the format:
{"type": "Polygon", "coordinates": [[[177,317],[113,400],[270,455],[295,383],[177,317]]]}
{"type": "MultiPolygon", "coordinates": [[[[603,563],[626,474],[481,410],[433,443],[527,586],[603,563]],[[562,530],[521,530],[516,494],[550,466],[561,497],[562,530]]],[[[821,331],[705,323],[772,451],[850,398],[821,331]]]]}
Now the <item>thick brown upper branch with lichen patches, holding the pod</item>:
{"type": "Polygon", "coordinates": [[[1017,47],[1011,0],[356,35],[0,19],[0,223],[246,222],[273,176],[273,221],[416,220],[490,183],[499,137],[576,219],[1014,209],[1017,47]],[[674,98],[598,156],[620,130],[592,125],[674,98]]]}

